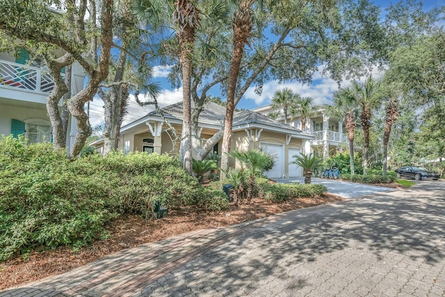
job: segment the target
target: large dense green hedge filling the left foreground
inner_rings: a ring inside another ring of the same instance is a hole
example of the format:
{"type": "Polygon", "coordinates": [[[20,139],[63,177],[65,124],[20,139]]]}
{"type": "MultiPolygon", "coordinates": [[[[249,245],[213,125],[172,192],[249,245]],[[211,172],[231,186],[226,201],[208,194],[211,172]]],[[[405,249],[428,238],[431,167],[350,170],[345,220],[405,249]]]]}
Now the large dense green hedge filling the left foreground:
{"type": "Polygon", "coordinates": [[[111,152],[71,160],[50,143],[0,141],[0,259],[35,248],[100,239],[122,214],[151,218],[154,204],[227,207],[222,191],[205,190],[168,155],[111,152]]]}

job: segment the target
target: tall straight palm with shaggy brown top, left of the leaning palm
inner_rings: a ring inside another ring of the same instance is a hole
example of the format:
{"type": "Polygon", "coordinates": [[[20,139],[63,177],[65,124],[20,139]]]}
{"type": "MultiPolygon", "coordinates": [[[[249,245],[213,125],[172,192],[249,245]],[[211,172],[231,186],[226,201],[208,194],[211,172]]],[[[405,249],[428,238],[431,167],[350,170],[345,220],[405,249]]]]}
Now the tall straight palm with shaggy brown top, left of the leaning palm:
{"type": "Polygon", "coordinates": [[[193,64],[191,61],[195,47],[196,29],[200,24],[200,10],[195,6],[193,0],[177,0],[174,14],[175,23],[178,25],[177,35],[181,54],[179,63],[182,68],[182,96],[183,96],[183,120],[181,153],[179,159],[184,169],[190,174],[193,171],[192,162],[192,118],[191,118],[191,76],[193,64]]]}

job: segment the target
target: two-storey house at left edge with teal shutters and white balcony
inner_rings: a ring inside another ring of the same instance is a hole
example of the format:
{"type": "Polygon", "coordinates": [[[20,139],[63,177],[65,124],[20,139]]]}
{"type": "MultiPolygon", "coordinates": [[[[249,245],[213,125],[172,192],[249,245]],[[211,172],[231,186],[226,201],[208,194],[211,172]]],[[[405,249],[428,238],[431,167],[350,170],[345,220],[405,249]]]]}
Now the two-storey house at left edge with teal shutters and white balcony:
{"type": "MultiPolygon", "coordinates": [[[[54,82],[43,65],[41,58],[23,47],[13,53],[0,52],[0,137],[24,134],[30,143],[51,141],[46,98],[54,82]]],[[[84,79],[83,70],[74,63],[72,94],[83,89],[84,79]]],[[[70,125],[70,130],[67,145],[74,140],[74,125],[70,125]]]]}

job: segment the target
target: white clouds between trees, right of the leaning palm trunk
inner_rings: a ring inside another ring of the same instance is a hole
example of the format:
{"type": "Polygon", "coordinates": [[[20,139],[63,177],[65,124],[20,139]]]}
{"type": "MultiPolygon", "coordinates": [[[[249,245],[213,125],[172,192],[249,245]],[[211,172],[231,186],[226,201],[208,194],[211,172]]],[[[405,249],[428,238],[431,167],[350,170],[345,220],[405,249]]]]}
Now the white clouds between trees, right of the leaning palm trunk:
{"type": "MultiPolygon", "coordinates": [[[[337,81],[330,79],[330,77],[322,76],[323,67],[320,67],[312,76],[311,84],[302,83],[278,83],[278,81],[269,81],[264,83],[263,92],[257,95],[254,92],[255,87],[251,86],[244,94],[245,99],[250,99],[255,102],[257,106],[270,104],[270,100],[277,90],[282,88],[290,88],[293,93],[298,93],[301,97],[312,97],[314,104],[329,104],[332,99],[332,93],[339,88],[337,81]]],[[[373,77],[381,77],[382,73],[377,67],[373,67],[371,74],[373,77]]],[[[362,78],[364,79],[364,78],[362,78]]],[[[341,86],[350,83],[351,80],[343,80],[341,86]]]]}

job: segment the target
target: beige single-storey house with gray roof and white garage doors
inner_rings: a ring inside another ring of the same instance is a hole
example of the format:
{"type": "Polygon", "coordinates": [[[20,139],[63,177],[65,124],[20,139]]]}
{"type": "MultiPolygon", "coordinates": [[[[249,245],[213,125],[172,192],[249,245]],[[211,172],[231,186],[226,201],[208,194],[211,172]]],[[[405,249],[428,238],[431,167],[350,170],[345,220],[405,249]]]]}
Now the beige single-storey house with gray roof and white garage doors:
{"type": "MultiPolygon", "coordinates": [[[[199,135],[201,144],[223,127],[225,107],[207,103],[200,114],[199,135]]],[[[182,102],[152,111],[121,128],[119,150],[159,154],[178,154],[182,128],[182,102]]],[[[232,150],[261,148],[275,157],[275,166],[266,175],[270,178],[301,177],[302,170],[292,163],[293,155],[301,154],[305,141],[313,136],[296,127],[272,120],[254,111],[234,113],[232,150]]],[[[91,145],[102,152],[103,143],[91,145]]],[[[213,147],[221,155],[222,141],[213,147]]],[[[234,165],[234,164],[232,164],[234,165]]]]}

